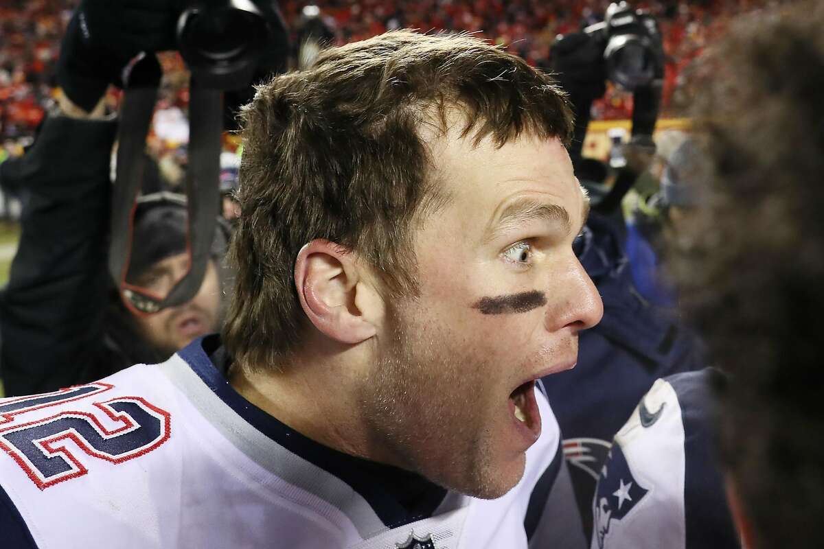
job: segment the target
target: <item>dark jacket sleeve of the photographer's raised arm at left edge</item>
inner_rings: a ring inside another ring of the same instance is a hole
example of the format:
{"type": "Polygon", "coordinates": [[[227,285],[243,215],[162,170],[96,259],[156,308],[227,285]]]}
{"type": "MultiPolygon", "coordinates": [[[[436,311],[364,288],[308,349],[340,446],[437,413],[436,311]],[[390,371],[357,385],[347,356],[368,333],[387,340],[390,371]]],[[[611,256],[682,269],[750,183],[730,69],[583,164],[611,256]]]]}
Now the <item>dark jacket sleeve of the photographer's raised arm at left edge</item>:
{"type": "Polygon", "coordinates": [[[116,123],[54,116],[26,155],[0,165],[23,202],[22,233],[0,294],[7,395],[43,393],[101,375],[116,123]]]}

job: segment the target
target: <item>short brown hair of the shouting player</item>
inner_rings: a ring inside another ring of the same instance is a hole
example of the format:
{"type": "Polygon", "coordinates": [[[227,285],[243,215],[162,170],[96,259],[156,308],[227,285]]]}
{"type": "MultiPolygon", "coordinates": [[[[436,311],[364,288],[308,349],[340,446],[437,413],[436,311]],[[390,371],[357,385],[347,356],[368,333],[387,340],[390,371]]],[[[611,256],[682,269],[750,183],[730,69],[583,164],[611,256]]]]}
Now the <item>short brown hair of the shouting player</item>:
{"type": "Polygon", "coordinates": [[[475,142],[571,134],[550,77],[471,35],[389,32],[325,50],[310,69],[257,89],[241,113],[242,213],[223,332],[236,361],[275,365],[299,341],[293,269],[311,240],[356,251],[388,295],[414,295],[410,229],[448,198],[419,129],[442,134],[452,109],[475,142]]]}

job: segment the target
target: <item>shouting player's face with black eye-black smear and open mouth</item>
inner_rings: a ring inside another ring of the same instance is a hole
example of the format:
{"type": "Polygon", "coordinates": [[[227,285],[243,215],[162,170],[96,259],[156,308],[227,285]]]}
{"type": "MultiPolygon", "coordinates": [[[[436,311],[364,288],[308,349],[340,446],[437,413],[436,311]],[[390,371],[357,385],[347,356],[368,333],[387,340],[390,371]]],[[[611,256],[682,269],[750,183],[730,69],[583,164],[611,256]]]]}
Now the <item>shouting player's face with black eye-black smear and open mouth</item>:
{"type": "Polygon", "coordinates": [[[420,295],[389,304],[362,412],[392,462],[494,498],[541,432],[534,380],[602,316],[572,249],[588,202],[557,140],[432,148],[451,200],[416,232],[420,295]]]}

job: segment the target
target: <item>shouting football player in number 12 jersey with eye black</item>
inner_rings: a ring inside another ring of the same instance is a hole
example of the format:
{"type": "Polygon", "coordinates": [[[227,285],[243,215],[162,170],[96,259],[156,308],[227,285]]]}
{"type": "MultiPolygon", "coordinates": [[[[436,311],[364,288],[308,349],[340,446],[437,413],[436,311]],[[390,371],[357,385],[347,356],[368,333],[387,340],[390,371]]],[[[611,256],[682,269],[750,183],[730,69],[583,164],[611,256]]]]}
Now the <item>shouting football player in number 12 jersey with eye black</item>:
{"type": "Polygon", "coordinates": [[[536,388],[602,315],[563,93],[470,35],[398,31],[243,118],[222,337],[0,401],[4,541],[582,547],[536,388]]]}

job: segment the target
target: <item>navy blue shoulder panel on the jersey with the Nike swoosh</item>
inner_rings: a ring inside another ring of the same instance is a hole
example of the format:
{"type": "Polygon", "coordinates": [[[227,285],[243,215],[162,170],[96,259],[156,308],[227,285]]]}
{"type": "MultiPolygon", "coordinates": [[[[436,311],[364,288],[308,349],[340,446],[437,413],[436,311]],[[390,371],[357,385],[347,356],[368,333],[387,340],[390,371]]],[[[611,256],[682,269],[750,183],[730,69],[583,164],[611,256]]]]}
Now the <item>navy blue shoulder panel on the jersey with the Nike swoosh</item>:
{"type": "Polygon", "coordinates": [[[684,424],[684,519],[686,549],[741,547],[730,514],[713,440],[712,379],[705,368],[665,378],[672,385],[684,424]]]}

